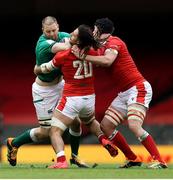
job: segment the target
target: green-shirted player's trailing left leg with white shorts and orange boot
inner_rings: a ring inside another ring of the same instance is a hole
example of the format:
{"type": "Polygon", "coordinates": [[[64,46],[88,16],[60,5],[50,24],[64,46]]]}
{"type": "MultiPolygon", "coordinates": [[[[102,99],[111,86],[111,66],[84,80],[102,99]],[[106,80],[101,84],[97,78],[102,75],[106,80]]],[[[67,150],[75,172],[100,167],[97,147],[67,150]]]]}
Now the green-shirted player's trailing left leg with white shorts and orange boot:
{"type": "Polygon", "coordinates": [[[10,165],[15,166],[17,163],[18,148],[23,144],[41,142],[48,137],[49,128],[51,127],[52,111],[60,96],[59,84],[44,87],[36,82],[32,85],[33,103],[36,110],[37,119],[40,127],[25,131],[15,138],[7,139],[7,158],[10,165]]]}

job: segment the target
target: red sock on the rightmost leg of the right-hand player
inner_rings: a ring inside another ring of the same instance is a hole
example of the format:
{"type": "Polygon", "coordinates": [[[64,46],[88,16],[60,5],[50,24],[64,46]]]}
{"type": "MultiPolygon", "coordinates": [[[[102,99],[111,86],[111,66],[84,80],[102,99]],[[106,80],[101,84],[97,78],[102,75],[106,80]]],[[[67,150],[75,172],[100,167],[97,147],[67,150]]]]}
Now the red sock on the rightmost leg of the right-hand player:
{"type": "Polygon", "coordinates": [[[164,163],[151,135],[148,135],[142,142],[154,160],[164,163]]]}

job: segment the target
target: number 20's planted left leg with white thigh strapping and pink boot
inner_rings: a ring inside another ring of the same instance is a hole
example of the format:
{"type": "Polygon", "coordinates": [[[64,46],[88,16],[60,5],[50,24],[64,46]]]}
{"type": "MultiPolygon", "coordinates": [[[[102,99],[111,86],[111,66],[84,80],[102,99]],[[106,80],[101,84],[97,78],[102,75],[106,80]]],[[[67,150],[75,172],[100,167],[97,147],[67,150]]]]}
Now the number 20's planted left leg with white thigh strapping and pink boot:
{"type": "Polygon", "coordinates": [[[80,103],[78,104],[76,102],[80,102],[80,96],[63,96],[54,110],[54,115],[52,117],[53,127],[50,131],[52,146],[57,154],[57,162],[52,166],[54,168],[58,168],[59,163],[66,162],[61,135],[67,127],[70,127],[73,124],[73,121],[75,121],[75,118],[78,116],[80,103]]]}

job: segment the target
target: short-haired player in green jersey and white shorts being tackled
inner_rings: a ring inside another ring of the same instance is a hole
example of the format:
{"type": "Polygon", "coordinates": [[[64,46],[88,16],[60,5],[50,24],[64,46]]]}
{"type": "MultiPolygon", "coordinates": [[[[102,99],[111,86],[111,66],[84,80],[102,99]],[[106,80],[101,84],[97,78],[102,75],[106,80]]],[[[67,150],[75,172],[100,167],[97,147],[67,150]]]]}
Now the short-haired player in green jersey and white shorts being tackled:
{"type": "MultiPolygon", "coordinates": [[[[36,44],[36,64],[49,62],[56,52],[70,48],[68,38],[70,34],[59,32],[59,24],[55,17],[47,16],[42,20],[43,34],[36,44]],[[63,41],[63,42],[62,42],[63,41]]],[[[36,109],[39,127],[29,129],[16,138],[7,139],[7,158],[10,165],[17,164],[17,151],[20,146],[28,143],[37,143],[49,138],[51,117],[57,102],[61,98],[64,87],[62,73],[56,69],[49,74],[40,74],[32,85],[33,103],[36,109]]],[[[88,167],[78,158],[81,126],[76,119],[69,128],[71,159],[70,163],[78,167],[88,167]]]]}

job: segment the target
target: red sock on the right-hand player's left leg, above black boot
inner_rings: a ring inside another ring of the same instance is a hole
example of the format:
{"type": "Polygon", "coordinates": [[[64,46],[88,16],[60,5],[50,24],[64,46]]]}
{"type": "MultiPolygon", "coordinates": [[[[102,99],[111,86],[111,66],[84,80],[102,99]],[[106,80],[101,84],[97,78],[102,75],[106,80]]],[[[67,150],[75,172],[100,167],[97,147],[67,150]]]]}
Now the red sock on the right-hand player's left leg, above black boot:
{"type": "Polygon", "coordinates": [[[113,137],[111,142],[114,143],[124,153],[127,159],[135,160],[137,158],[137,156],[130,149],[130,146],[127,144],[126,139],[119,131],[113,137]]]}

